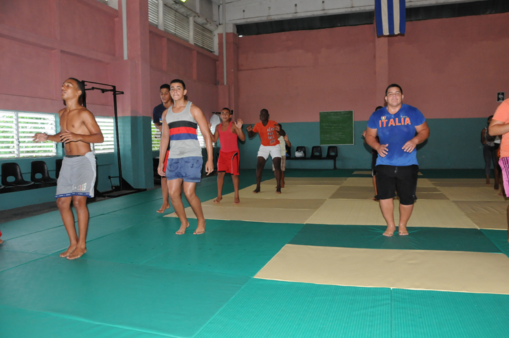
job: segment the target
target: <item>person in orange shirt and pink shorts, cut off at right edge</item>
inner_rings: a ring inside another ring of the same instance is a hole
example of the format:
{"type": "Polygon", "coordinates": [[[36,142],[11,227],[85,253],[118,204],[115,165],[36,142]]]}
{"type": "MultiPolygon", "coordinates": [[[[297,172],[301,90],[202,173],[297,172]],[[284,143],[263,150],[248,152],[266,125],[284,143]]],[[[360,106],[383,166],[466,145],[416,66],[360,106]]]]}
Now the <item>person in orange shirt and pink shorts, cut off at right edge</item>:
{"type": "MultiPolygon", "coordinates": [[[[488,133],[491,136],[502,135],[500,144],[500,167],[502,168],[502,177],[504,178],[504,190],[509,192],[509,99],[503,101],[488,127],[488,133]]],[[[508,212],[508,241],[509,241],[509,206],[508,212]]]]}

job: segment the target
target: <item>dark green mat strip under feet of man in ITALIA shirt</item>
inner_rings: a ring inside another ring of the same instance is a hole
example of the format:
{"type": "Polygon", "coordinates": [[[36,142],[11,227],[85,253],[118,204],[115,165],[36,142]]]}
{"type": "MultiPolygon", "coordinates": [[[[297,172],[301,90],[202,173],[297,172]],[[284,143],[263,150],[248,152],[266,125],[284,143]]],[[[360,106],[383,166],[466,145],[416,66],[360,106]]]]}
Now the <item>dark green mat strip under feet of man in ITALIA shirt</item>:
{"type": "MultiPolygon", "coordinates": [[[[383,236],[377,225],[306,224],[289,244],[363,249],[446,250],[501,253],[479,229],[409,227],[409,236],[383,236]]],[[[506,232],[507,243],[507,232],[506,232]]]]}

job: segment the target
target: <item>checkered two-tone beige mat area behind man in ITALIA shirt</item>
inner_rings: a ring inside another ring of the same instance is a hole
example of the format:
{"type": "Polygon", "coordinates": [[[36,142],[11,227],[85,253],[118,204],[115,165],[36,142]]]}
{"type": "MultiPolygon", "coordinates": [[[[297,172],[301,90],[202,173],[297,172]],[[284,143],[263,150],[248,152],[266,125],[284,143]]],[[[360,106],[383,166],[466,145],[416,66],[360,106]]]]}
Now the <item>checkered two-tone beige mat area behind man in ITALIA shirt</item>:
{"type": "MultiPolygon", "coordinates": [[[[288,177],[282,194],[275,193],[275,179],[240,190],[240,204],[226,194],[218,204],[203,201],[209,219],[273,223],[386,225],[380,204],[373,201],[371,177],[288,177]],[[260,210],[263,209],[262,212],[260,210]]],[[[457,185],[483,183],[477,179],[419,179],[418,201],[409,227],[457,227],[506,229],[507,202],[491,187],[436,187],[436,183],[457,185]],[[469,204],[470,203],[470,204],[469,204]],[[483,204],[488,203],[488,204],[483,204]],[[494,203],[494,204],[489,204],[494,203]]],[[[394,217],[399,221],[399,201],[394,199],[394,217]]],[[[188,207],[186,214],[194,218],[188,207]]],[[[175,214],[167,215],[174,217],[175,214]]]]}

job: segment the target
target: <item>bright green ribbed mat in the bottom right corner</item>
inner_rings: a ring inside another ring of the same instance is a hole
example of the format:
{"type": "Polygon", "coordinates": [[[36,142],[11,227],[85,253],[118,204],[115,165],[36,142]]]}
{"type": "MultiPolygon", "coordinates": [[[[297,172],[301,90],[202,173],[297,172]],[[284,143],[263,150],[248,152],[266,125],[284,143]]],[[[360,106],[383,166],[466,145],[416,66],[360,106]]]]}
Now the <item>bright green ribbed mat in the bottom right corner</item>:
{"type": "Polygon", "coordinates": [[[509,337],[509,295],[392,290],[395,338],[509,337]]]}

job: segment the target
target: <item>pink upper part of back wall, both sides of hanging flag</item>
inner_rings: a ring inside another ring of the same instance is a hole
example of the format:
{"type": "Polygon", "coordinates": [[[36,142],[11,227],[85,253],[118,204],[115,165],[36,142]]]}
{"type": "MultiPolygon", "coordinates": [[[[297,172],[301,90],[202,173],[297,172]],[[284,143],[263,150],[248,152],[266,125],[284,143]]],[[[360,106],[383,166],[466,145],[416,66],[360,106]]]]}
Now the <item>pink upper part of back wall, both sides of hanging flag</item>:
{"type": "Polygon", "coordinates": [[[373,25],[244,36],[238,43],[238,109],[247,123],[267,108],[280,122],[316,122],[319,111],[367,120],[399,83],[428,118],[485,117],[509,93],[509,13],[407,23],[376,38],[373,25]]]}

